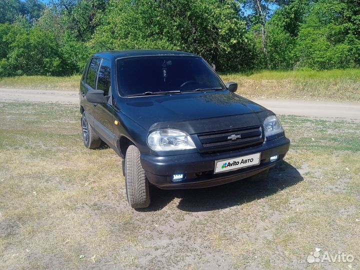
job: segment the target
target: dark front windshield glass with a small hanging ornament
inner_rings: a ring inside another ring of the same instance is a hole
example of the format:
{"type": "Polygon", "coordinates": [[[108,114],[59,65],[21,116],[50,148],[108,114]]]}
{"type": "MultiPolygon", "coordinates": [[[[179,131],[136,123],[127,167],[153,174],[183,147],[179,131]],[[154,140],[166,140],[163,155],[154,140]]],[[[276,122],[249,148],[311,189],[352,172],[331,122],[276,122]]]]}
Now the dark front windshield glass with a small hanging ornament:
{"type": "Polygon", "coordinates": [[[195,56],[139,56],[117,59],[122,96],[169,91],[224,89],[215,72],[195,56]]]}

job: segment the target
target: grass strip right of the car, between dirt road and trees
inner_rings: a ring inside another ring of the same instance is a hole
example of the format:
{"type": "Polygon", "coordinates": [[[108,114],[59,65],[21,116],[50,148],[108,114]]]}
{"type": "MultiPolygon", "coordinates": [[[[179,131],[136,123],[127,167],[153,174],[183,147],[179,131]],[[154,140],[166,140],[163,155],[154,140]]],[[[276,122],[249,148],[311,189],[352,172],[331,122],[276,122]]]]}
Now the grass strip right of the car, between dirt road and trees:
{"type": "Polygon", "coordinates": [[[222,74],[237,81],[237,93],[253,98],[293,98],[360,101],[360,69],[325,71],[263,71],[222,74]]]}

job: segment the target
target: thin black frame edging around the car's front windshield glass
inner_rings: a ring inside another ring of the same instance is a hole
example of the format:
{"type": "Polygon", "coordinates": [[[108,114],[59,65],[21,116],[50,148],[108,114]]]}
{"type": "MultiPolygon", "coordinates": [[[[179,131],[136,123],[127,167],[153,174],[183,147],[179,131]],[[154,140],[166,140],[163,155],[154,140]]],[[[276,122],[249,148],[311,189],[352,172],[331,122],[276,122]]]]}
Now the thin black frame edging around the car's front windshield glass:
{"type": "MultiPolygon", "coordinates": [[[[212,66],[204,59],[202,58],[201,56],[199,55],[187,55],[187,54],[146,54],[146,55],[131,55],[131,56],[123,56],[123,57],[118,57],[118,58],[115,58],[115,80],[116,80],[116,91],[117,91],[117,94],[119,97],[123,97],[123,98],[126,98],[126,97],[140,97],[140,96],[150,96],[150,95],[136,95],[136,96],[127,96],[127,95],[123,95],[121,90],[120,90],[120,85],[118,84],[118,70],[117,70],[117,61],[118,60],[121,60],[121,59],[128,59],[128,58],[138,58],[138,57],[163,57],[163,56],[174,56],[174,57],[195,57],[195,58],[200,58],[209,68],[210,70],[212,71],[212,73],[217,77],[217,79],[220,81],[221,85],[223,86],[223,90],[226,90],[227,87],[225,86],[225,83],[223,83],[222,79],[220,78],[220,76],[216,73],[216,71],[212,68],[212,66]]],[[[190,91],[192,92],[192,91],[190,91]]],[[[186,92],[183,92],[183,93],[187,93],[186,92]]]]}

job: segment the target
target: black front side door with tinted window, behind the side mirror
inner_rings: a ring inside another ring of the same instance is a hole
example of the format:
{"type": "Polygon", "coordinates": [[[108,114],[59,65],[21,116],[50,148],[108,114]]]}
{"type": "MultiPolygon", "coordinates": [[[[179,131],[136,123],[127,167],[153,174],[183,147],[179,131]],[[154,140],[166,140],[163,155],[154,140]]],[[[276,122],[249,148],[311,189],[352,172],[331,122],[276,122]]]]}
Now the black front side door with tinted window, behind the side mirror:
{"type": "Polygon", "coordinates": [[[106,143],[115,144],[114,134],[112,132],[112,94],[111,94],[111,62],[106,58],[101,58],[97,76],[95,80],[95,89],[104,91],[108,96],[108,102],[104,104],[94,104],[93,116],[99,126],[95,127],[96,131],[103,137],[106,143]]]}

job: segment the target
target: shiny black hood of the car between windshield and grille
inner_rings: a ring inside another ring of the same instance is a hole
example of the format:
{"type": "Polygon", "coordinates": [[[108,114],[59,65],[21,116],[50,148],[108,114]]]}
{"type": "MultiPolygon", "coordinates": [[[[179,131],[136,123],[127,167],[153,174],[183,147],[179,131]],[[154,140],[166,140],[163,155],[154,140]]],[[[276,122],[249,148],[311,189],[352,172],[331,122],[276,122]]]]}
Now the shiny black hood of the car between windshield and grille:
{"type": "Polygon", "coordinates": [[[147,130],[172,127],[188,133],[262,124],[258,113],[267,111],[228,90],[124,97],[118,107],[147,130]]]}

